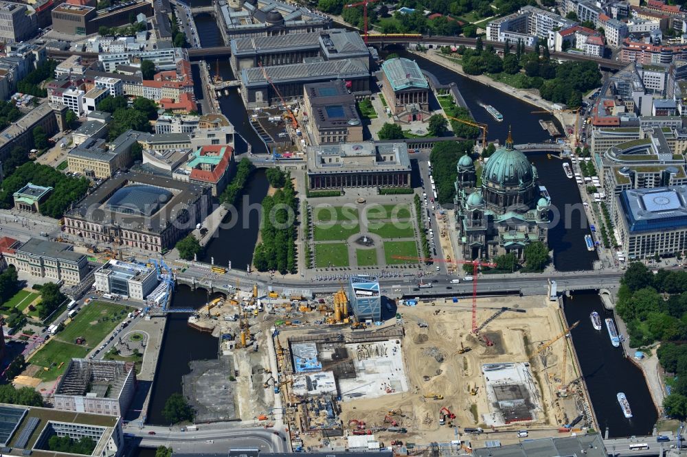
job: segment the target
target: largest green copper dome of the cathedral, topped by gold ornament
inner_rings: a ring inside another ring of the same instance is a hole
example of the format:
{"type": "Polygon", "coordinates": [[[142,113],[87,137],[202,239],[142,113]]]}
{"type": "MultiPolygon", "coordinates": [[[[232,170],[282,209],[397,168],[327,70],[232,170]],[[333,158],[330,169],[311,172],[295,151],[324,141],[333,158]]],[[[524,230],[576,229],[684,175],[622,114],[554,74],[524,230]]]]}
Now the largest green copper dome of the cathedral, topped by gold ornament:
{"type": "Polygon", "coordinates": [[[482,182],[498,186],[528,185],[537,176],[525,154],[513,148],[513,138],[508,132],[506,148],[498,149],[486,162],[482,182]]]}

